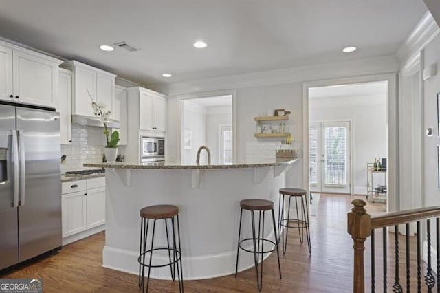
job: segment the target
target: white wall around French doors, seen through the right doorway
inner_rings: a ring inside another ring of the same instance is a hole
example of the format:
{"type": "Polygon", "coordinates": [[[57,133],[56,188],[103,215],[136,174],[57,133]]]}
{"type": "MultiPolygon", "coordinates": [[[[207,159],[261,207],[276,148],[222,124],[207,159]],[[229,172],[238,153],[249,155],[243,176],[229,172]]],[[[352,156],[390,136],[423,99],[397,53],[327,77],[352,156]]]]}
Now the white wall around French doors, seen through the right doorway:
{"type": "MultiPolygon", "coordinates": [[[[311,123],[351,121],[354,193],[366,195],[366,163],[388,153],[386,95],[311,98],[309,109],[311,123]]],[[[383,179],[375,177],[374,185],[383,179]]]]}

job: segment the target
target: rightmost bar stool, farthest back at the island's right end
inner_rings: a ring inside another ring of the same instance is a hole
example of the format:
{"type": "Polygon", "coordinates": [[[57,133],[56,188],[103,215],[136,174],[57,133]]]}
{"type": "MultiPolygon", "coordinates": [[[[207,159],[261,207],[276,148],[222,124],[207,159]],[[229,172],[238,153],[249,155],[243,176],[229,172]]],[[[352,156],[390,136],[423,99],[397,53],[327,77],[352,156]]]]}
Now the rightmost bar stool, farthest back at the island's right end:
{"type": "MultiPolygon", "coordinates": [[[[307,244],[309,246],[309,253],[311,254],[311,243],[310,243],[310,228],[309,228],[309,206],[307,204],[307,191],[300,188],[281,188],[280,189],[280,201],[278,204],[278,237],[281,237],[281,227],[283,228],[283,254],[286,253],[287,249],[287,234],[289,228],[298,229],[300,235],[300,243],[303,244],[304,241],[304,230],[306,232],[307,244]],[[287,218],[284,217],[284,203],[285,196],[289,197],[289,205],[287,206],[287,218]],[[290,203],[292,197],[295,198],[296,206],[296,218],[290,217],[290,203]],[[298,197],[301,199],[301,218],[298,214],[298,197]],[[296,223],[294,226],[289,226],[289,222],[296,223]]],[[[279,242],[279,240],[278,240],[279,242]]]]}

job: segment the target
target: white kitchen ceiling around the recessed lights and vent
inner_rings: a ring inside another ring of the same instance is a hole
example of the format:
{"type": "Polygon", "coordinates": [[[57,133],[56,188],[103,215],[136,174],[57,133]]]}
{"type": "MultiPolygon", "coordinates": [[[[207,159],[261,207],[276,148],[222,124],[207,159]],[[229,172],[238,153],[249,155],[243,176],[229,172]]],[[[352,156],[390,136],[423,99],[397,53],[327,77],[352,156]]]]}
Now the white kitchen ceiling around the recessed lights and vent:
{"type": "Polygon", "coordinates": [[[0,36],[143,85],[395,54],[426,12],[422,0],[0,0],[0,7],[0,36]],[[208,47],[192,47],[197,39],[208,47]],[[140,50],[98,48],[119,41],[140,50]],[[359,50],[343,54],[347,45],[359,50]]]}

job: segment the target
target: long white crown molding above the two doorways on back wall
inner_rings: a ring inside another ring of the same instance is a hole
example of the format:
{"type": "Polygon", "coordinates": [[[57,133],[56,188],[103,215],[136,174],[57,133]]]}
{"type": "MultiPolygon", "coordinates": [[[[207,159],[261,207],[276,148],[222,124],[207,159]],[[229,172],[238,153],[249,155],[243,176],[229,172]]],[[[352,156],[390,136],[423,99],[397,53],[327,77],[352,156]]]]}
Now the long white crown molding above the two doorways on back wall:
{"type": "Polygon", "coordinates": [[[379,56],[338,63],[290,67],[217,78],[204,78],[180,83],[149,85],[148,88],[171,96],[200,91],[217,91],[221,89],[238,89],[327,78],[383,74],[398,72],[399,69],[400,63],[395,56],[379,56]]]}

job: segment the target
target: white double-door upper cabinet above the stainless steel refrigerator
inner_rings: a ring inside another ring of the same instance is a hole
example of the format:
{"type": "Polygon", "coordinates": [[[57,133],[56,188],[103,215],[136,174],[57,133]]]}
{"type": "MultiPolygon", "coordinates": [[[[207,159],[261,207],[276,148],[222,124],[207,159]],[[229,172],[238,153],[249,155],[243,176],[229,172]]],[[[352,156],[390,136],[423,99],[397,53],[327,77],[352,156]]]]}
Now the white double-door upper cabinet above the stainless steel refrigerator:
{"type": "Polygon", "coordinates": [[[0,41],[0,100],[58,109],[61,62],[0,41]]]}

